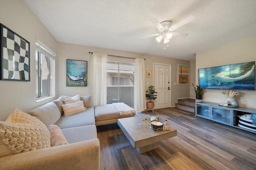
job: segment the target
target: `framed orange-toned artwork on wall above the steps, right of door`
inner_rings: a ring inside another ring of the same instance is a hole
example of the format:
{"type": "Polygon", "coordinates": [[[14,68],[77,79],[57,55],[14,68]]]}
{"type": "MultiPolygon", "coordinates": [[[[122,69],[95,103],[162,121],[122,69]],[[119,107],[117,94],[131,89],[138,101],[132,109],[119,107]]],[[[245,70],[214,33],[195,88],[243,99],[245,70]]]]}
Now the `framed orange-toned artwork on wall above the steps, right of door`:
{"type": "Polygon", "coordinates": [[[178,64],[178,85],[189,85],[189,65],[178,64]]]}

